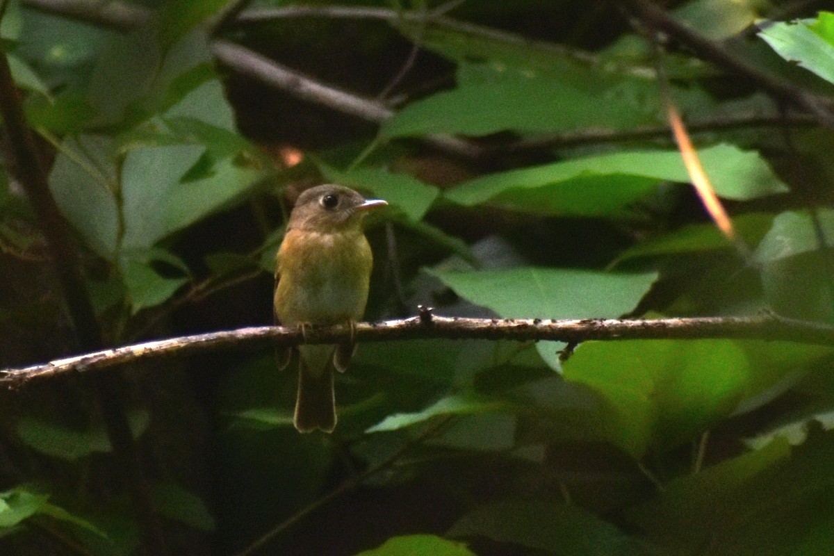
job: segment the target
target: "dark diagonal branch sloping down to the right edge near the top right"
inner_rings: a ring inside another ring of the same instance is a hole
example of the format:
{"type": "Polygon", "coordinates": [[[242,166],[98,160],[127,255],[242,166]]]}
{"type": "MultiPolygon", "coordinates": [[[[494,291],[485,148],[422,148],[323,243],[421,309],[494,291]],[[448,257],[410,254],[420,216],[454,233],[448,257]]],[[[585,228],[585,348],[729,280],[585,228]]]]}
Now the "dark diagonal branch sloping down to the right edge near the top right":
{"type": "Polygon", "coordinates": [[[683,23],[671,18],[650,0],[624,0],[624,3],[647,28],[670,35],[690,48],[699,58],[755,81],[759,87],[771,96],[806,109],[816,116],[820,123],[825,124],[828,128],[834,128],[834,104],[826,98],[809,93],[785,79],[748,63],[745,59],[737,57],[723,48],[721,44],[709,40],[693,29],[686,27],[683,23]]]}

